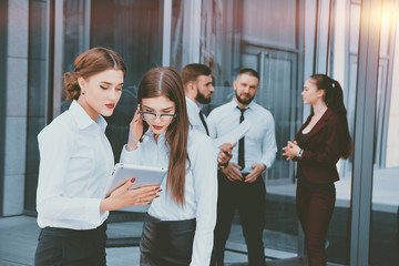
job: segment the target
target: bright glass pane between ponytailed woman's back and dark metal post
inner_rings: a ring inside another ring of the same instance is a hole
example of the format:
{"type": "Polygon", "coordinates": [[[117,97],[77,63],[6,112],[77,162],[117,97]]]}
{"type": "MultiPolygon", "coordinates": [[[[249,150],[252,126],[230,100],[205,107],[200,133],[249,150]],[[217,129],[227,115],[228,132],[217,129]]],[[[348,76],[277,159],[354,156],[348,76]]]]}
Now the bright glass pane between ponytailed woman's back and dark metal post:
{"type": "MultiPolygon", "coordinates": [[[[334,14],[334,41],[331,42],[331,78],[344,90],[349,133],[354,137],[356,86],[358,69],[358,44],[360,27],[360,3],[336,1],[334,14]]],[[[340,181],[336,182],[336,206],[327,235],[327,260],[349,264],[350,201],[352,157],[337,164],[340,181]]]]}

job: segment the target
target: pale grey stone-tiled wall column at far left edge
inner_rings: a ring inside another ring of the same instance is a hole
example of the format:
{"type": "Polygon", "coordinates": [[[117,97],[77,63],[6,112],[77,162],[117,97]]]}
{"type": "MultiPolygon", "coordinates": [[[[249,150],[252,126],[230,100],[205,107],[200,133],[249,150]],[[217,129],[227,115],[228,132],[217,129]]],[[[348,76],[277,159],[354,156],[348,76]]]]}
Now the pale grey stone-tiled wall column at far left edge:
{"type": "Polygon", "coordinates": [[[29,1],[8,1],[2,214],[23,212],[28,106],[29,1]]]}

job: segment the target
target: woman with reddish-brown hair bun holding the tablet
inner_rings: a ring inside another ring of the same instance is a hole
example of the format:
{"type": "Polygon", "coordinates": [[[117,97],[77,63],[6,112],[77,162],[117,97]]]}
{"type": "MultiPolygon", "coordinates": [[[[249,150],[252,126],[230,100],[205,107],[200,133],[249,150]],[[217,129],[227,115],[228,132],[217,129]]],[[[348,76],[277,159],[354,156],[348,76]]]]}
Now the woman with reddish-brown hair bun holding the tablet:
{"type": "Polygon", "coordinates": [[[105,48],[83,52],[74,70],[64,74],[71,106],[38,135],[37,211],[42,229],[34,265],[106,265],[109,211],[157,197],[157,186],[130,190],[132,178],[104,198],[114,157],[103,116],[113,113],[125,74],[122,58],[105,48]]]}

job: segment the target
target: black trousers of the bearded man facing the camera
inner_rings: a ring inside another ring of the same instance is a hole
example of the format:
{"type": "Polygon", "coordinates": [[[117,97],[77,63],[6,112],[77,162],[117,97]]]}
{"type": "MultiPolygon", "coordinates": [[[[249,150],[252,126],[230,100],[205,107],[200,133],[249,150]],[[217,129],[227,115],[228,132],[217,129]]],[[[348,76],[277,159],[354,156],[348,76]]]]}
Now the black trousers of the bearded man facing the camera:
{"type": "Polygon", "coordinates": [[[231,182],[222,171],[218,177],[217,221],[211,265],[224,265],[224,249],[231,232],[233,216],[238,209],[248,265],[265,265],[263,229],[265,226],[265,182],[259,176],[254,183],[231,182]]]}

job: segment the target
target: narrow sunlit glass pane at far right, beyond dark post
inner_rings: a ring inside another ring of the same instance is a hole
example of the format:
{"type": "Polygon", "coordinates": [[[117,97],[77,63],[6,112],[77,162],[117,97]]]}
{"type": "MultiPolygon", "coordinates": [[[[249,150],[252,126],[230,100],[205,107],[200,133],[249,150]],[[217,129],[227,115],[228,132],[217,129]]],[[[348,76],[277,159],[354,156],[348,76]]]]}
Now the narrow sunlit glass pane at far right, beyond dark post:
{"type": "Polygon", "coordinates": [[[383,1],[376,110],[370,265],[399,263],[399,32],[397,1],[383,1]],[[396,31],[393,31],[396,29],[396,31]],[[392,49],[389,49],[392,48],[392,49]]]}

